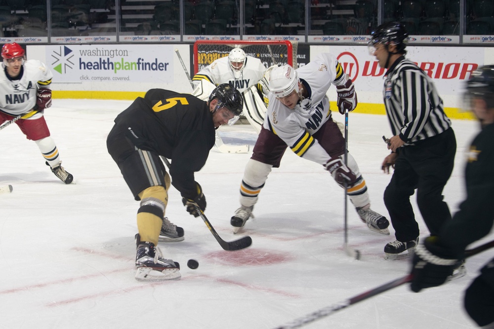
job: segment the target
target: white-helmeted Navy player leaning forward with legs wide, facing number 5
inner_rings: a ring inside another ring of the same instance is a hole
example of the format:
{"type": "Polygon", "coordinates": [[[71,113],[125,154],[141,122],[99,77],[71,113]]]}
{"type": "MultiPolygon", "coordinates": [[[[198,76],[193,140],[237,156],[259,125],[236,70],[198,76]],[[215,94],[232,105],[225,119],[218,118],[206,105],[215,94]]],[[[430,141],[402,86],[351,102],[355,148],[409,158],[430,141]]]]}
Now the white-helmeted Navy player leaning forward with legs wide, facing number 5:
{"type": "Polygon", "coordinates": [[[285,65],[274,68],[269,76],[269,106],[252,157],[247,162],[240,187],[241,207],[230,223],[238,232],[250,217],[259,192],[271,168],[279,167],[287,148],[298,156],[317,162],[328,170],[347,193],[362,221],[376,232],[389,234],[388,220],[370,208],[367,185],[357,162],[348,154],[348,166],[342,161],[344,138],[331,118],[326,92],[331,84],[337,89],[338,110],[354,110],[357,95],[352,80],[343,72],[336,58],[318,55],[294,70],[285,65]]]}

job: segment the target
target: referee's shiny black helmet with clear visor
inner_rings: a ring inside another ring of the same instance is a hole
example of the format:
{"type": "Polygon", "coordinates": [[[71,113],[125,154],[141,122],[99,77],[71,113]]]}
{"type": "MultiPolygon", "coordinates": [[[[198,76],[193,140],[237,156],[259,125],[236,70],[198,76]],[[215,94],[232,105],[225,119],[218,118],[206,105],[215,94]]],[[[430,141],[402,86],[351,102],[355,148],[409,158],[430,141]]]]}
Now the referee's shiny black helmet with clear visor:
{"type": "Polygon", "coordinates": [[[400,22],[386,22],[379,25],[371,32],[369,48],[373,48],[376,43],[384,45],[396,45],[396,53],[404,53],[408,43],[408,32],[405,25],[400,22]]]}

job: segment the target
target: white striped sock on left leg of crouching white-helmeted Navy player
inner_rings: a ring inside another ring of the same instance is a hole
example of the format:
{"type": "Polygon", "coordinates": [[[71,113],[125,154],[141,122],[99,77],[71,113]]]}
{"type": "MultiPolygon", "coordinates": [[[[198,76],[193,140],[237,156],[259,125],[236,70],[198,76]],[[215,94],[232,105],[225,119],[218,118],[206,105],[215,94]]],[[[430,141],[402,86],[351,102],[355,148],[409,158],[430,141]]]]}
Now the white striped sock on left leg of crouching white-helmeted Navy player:
{"type": "Polygon", "coordinates": [[[240,185],[240,204],[244,207],[253,206],[257,196],[268,179],[272,165],[249,159],[240,185]]]}

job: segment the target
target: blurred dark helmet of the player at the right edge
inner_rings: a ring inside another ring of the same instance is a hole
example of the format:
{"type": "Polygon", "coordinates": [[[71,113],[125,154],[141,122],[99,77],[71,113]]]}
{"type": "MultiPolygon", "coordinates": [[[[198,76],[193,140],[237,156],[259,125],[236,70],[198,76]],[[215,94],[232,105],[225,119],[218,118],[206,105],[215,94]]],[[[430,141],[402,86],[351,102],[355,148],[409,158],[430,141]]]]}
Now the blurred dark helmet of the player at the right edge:
{"type": "Polygon", "coordinates": [[[494,108],[494,65],[485,65],[472,72],[466,81],[467,103],[474,97],[486,101],[487,107],[494,108]]]}

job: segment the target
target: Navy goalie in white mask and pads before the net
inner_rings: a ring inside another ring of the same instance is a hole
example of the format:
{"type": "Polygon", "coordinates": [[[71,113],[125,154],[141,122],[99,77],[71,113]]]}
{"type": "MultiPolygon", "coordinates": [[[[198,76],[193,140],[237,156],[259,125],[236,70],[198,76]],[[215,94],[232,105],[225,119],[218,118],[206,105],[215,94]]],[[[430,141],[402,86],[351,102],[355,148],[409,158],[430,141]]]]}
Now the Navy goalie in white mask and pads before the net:
{"type": "Polygon", "coordinates": [[[212,89],[228,83],[242,93],[243,113],[248,122],[259,132],[266,106],[263,94],[268,94],[264,78],[266,67],[255,57],[247,56],[241,48],[234,48],[226,57],[219,58],[192,77],[193,95],[206,100],[212,89]]]}

